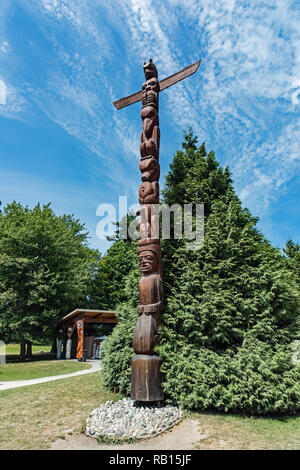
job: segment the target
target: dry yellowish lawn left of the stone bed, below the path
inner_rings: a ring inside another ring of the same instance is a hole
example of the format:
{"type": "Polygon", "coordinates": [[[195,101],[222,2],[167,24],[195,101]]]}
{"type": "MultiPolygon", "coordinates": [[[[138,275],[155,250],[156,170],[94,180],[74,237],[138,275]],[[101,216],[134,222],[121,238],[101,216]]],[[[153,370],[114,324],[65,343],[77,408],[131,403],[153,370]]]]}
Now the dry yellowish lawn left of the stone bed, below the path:
{"type": "Polygon", "coordinates": [[[0,449],[47,449],[81,432],[101,403],[120,398],[104,389],[99,372],[0,392],[0,449]]]}

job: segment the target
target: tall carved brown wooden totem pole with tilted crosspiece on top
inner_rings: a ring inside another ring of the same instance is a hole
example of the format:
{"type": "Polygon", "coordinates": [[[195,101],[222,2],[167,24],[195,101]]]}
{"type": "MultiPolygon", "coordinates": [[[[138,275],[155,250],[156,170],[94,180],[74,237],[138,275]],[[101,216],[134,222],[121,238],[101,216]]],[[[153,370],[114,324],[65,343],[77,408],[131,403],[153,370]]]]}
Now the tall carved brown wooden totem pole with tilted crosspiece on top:
{"type": "Polygon", "coordinates": [[[134,330],[132,359],[131,398],[140,402],[163,400],[160,378],[161,359],[154,354],[158,342],[158,326],[163,302],[162,262],[159,238],[159,92],[195,73],[200,61],[180,72],[158,81],[157,69],[150,59],[144,63],[145,83],[138,93],[114,103],[117,109],[142,101],[139,167],[142,184],[139,190],[141,204],[137,215],[139,241],[138,256],[142,278],[139,283],[140,304],[134,330]]]}

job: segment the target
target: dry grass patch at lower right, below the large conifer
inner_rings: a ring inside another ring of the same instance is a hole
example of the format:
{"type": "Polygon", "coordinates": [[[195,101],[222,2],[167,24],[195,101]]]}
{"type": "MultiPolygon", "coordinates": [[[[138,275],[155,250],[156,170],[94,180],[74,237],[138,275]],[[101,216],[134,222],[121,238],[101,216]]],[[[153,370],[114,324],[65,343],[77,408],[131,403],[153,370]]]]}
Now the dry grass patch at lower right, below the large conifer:
{"type": "Polygon", "coordinates": [[[193,413],[192,417],[199,421],[201,439],[197,449],[300,449],[300,416],[258,418],[193,413]]]}

